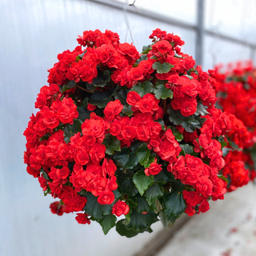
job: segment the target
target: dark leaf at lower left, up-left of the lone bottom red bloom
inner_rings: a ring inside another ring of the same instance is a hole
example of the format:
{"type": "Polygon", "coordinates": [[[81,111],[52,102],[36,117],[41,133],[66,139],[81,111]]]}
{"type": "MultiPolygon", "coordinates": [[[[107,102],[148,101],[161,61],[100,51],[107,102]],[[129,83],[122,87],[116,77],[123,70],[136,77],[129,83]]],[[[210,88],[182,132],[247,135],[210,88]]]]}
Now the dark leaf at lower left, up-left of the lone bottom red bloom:
{"type": "MultiPolygon", "coordinates": [[[[101,205],[97,202],[97,197],[94,197],[93,194],[86,194],[87,203],[84,207],[86,214],[93,216],[94,218],[102,218],[102,215],[111,214],[112,205],[101,205]]],[[[114,204],[113,204],[114,205],[114,204]]]]}

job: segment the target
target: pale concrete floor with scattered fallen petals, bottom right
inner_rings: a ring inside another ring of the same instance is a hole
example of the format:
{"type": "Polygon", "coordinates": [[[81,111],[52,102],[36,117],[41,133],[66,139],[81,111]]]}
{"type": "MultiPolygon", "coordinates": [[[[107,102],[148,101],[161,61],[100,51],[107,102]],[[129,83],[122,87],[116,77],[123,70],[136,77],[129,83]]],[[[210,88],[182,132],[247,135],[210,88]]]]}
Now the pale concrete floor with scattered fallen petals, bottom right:
{"type": "Polygon", "coordinates": [[[174,235],[156,256],[256,256],[256,186],[212,202],[174,235]]]}

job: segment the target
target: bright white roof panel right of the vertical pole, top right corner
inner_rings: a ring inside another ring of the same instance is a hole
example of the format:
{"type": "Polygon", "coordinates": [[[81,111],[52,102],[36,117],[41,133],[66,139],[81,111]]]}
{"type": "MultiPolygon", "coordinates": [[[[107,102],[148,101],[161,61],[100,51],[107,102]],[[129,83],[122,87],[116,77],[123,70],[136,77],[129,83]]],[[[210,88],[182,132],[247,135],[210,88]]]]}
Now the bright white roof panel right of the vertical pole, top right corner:
{"type": "Polygon", "coordinates": [[[207,29],[256,44],[255,0],[207,0],[205,25],[207,29]]]}

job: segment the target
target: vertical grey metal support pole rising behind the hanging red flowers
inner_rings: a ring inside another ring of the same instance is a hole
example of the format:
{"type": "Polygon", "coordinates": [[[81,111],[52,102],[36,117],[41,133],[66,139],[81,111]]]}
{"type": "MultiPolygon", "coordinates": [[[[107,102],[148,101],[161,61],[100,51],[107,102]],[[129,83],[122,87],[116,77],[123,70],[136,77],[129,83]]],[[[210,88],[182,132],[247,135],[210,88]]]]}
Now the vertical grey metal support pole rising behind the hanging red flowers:
{"type": "Polygon", "coordinates": [[[197,18],[197,38],[195,45],[196,65],[202,65],[203,61],[203,37],[204,37],[204,0],[198,0],[198,18],[197,18]]]}

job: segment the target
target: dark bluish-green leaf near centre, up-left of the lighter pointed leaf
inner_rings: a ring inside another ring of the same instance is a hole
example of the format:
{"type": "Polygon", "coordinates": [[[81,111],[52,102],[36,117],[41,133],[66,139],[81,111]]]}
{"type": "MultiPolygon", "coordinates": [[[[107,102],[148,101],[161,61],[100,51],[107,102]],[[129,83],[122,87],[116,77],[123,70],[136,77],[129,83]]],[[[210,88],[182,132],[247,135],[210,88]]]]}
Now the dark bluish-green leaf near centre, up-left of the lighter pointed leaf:
{"type": "Polygon", "coordinates": [[[125,146],[114,154],[114,162],[121,170],[131,169],[138,165],[138,157],[125,146]]]}

